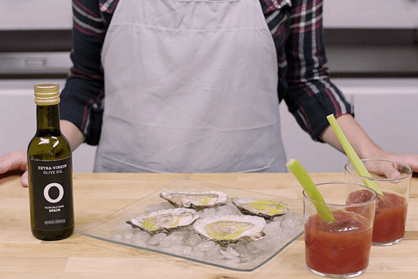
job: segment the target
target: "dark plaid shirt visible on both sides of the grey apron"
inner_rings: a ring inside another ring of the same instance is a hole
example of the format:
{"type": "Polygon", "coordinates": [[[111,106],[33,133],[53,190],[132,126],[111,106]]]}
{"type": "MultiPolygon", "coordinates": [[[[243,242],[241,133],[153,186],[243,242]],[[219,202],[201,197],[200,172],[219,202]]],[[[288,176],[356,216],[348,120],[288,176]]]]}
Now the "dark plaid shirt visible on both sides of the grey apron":
{"type": "MultiPolygon", "coordinates": [[[[323,42],[323,0],[260,0],[277,49],[279,100],[314,140],[329,125],[326,116],[353,114],[328,78],[323,42]]],[[[118,0],[72,0],[74,49],[61,93],[61,119],[75,123],[88,144],[98,144],[104,78],[100,61],[104,36],[118,0]]]]}

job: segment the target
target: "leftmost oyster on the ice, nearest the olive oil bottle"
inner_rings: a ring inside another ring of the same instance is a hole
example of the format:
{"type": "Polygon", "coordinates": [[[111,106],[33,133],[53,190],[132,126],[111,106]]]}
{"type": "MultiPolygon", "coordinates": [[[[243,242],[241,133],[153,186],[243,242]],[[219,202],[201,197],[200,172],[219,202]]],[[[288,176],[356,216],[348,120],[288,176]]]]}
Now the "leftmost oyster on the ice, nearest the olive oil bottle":
{"type": "Polygon", "coordinates": [[[141,214],[131,218],[126,223],[150,234],[157,234],[169,232],[180,227],[187,227],[192,225],[197,219],[199,219],[199,215],[193,209],[164,209],[141,214]]]}

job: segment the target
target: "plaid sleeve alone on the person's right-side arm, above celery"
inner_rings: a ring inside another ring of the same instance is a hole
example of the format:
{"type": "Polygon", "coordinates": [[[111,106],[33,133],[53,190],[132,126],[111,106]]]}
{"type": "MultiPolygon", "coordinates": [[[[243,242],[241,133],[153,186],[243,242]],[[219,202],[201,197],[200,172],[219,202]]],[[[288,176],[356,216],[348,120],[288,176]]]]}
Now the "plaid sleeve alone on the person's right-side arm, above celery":
{"type": "MultiPolygon", "coordinates": [[[[322,141],[320,135],[329,126],[327,115],[354,114],[353,106],[330,82],[323,43],[322,1],[294,1],[290,10],[285,54],[288,87],[284,100],[297,123],[322,141]]],[[[280,94],[280,92],[279,92],[280,94]]]]}

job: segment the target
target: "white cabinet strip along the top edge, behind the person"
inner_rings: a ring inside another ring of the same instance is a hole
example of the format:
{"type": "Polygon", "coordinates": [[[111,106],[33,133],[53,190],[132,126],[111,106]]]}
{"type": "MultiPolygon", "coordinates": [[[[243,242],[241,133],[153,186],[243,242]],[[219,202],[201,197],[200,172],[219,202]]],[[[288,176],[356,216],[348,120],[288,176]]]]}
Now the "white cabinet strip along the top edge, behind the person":
{"type": "MultiPolygon", "coordinates": [[[[71,29],[71,0],[1,0],[1,29],[71,29]]],[[[417,28],[417,0],[325,0],[327,28],[417,28]]]]}

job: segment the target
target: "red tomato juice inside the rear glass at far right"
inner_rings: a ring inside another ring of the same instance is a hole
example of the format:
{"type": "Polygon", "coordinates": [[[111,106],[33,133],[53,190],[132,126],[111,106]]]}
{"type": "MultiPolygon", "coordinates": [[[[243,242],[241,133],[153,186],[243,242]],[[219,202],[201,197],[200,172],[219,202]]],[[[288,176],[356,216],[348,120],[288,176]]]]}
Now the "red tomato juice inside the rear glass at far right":
{"type": "MultiPolygon", "coordinates": [[[[351,193],[348,202],[362,202],[367,197],[362,190],[351,193]]],[[[405,197],[383,191],[384,199],[378,197],[376,216],[373,223],[373,243],[391,243],[405,236],[408,204],[405,197]]]]}

